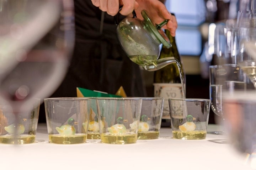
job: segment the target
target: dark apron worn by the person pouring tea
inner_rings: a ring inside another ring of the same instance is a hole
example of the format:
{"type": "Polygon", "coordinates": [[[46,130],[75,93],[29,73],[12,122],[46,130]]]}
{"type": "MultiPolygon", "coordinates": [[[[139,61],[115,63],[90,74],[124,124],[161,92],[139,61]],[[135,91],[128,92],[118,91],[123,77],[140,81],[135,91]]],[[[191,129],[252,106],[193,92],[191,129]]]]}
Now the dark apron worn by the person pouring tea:
{"type": "MultiPolygon", "coordinates": [[[[145,97],[139,66],[119,45],[113,17],[90,0],[74,0],[74,5],[73,57],[65,79],[50,97],[76,97],[76,87],[115,94],[120,86],[129,97],[145,97]]],[[[39,122],[45,121],[43,104],[39,117],[39,122]]]]}

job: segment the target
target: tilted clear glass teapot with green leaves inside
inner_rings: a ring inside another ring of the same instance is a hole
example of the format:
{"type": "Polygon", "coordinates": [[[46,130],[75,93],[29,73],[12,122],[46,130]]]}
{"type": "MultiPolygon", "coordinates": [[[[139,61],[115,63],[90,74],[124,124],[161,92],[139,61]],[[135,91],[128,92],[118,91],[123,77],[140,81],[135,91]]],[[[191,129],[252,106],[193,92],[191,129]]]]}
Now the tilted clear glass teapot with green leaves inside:
{"type": "Polygon", "coordinates": [[[167,48],[171,47],[170,40],[161,29],[169,20],[166,19],[160,24],[155,24],[146,10],[141,12],[144,20],[138,19],[135,11],[132,14],[133,17],[124,18],[119,24],[117,21],[118,14],[114,18],[115,23],[118,24],[119,43],[130,60],[148,71],[155,71],[168,64],[176,63],[174,57],[158,60],[160,45],[162,44],[167,48]]]}

